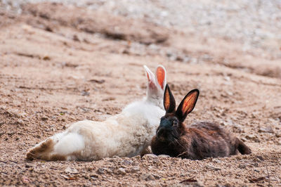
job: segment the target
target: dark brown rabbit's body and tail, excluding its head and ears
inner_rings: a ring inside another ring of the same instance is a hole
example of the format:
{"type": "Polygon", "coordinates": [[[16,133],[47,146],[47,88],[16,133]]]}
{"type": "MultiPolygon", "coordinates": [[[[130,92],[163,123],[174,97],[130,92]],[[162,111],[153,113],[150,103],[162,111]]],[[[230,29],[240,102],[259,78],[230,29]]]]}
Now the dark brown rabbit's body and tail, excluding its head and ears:
{"type": "Polygon", "coordinates": [[[151,148],[155,155],[202,160],[206,157],[228,157],[250,154],[251,150],[239,138],[232,136],[216,124],[200,122],[185,127],[181,124],[181,134],[173,141],[154,136],[151,148]]]}

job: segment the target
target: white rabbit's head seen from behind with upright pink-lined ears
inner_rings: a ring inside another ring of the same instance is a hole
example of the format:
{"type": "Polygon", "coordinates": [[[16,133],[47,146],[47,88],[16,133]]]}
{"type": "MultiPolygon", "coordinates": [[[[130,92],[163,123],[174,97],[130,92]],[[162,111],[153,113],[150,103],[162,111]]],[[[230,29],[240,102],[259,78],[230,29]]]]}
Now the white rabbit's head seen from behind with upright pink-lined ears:
{"type": "Polygon", "coordinates": [[[148,86],[146,91],[146,101],[163,108],[162,101],[164,96],[164,88],[166,86],[166,70],[163,65],[158,65],[155,75],[150,69],[144,65],[146,75],[148,77],[148,86]]]}

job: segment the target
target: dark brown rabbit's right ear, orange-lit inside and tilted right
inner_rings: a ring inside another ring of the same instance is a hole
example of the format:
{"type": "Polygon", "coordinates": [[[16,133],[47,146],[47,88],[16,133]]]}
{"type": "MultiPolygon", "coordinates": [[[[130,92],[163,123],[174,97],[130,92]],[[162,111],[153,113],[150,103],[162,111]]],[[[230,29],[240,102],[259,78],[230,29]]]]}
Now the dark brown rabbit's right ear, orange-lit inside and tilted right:
{"type": "Polygon", "coordinates": [[[178,120],[183,122],[185,117],[187,117],[188,114],[193,110],[199,93],[200,92],[198,89],[193,89],[185,96],[185,98],[183,98],[183,101],[181,101],[181,104],[178,105],[178,109],[176,110],[176,116],[178,117],[178,120]]]}

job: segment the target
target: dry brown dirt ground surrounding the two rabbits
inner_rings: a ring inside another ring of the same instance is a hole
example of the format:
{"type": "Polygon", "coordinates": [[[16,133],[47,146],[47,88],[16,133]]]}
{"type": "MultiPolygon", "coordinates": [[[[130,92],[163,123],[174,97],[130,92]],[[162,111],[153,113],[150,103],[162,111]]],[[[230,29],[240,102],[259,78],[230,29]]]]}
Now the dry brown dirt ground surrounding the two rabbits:
{"type": "Polygon", "coordinates": [[[62,4],[27,4],[20,15],[1,9],[0,185],[281,186],[281,49],[270,42],[270,50],[245,51],[234,39],[62,4]],[[144,64],[166,67],[177,102],[200,89],[186,123],[217,122],[253,153],[25,160],[67,124],[104,120],[145,96],[144,64]]]}

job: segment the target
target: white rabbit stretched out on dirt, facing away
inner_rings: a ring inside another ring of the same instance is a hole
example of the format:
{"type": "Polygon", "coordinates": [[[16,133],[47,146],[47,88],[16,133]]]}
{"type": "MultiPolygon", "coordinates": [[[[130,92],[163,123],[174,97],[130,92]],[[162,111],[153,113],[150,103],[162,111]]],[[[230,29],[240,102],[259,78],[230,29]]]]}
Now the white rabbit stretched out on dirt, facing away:
{"type": "Polygon", "coordinates": [[[146,97],[131,103],[118,115],[103,122],[84,120],[70,125],[37,144],[27,159],[100,160],[103,157],[133,157],[150,145],[164,112],[166,70],[158,65],[156,76],[145,66],[148,76],[146,97]]]}

